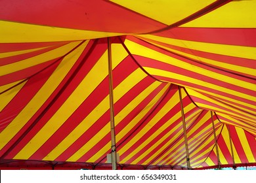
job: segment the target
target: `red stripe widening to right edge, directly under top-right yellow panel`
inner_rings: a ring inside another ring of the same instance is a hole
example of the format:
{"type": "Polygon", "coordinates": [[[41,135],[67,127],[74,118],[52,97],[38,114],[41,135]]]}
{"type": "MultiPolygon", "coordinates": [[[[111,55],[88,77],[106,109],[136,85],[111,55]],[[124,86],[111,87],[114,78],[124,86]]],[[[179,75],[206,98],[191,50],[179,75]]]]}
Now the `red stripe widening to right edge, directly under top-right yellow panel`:
{"type": "Polygon", "coordinates": [[[256,46],[256,29],[175,27],[154,35],[187,41],[252,47],[256,46]]]}

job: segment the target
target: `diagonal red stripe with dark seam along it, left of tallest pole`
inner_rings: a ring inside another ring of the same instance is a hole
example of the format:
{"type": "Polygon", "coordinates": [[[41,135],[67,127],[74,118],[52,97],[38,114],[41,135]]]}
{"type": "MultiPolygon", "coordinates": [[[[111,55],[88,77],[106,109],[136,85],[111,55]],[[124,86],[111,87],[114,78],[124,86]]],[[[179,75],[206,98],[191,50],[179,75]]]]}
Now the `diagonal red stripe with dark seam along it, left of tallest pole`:
{"type": "MultiPolygon", "coordinates": [[[[35,120],[37,120],[37,118],[39,118],[39,116],[41,116],[42,112],[45,110],[45,108],[51,103],[51,101],[53,101],[53,99],[56,97],[56,95],[60,92],[60,90],[62,90],[62,87],[65,86],[66,82],[69,80],[69,78],[74,74],[75,69],[77,69],[77,67],[79,67],[79,64],[81,63],[81,61],[83,61],[83,58],[86,56],[87,52],[89,51],[89,49],[91,48],[93,44],[92,42],[89,42],[89,45],[85,48],[85,51],[83,52],[83,54],[81,54],[81,56],[79,57],[79,59],[77,59],[77,62],[75,63],[75,65],[72,67],[72,69],[70,69],[69,73],[65,76],[64,80],[62,80],[62,82],[59,84],[58,88],[56,88],[56,90],[54,90],[54,92],[51,94],[51,96],[49,97],[49,99],[47,99],[47,101],[42,105],[41,108],[39,108],[39,110],[37,110],[37,112],[35,113],[35,115],[30,119],[30,121],[27,122],[26,126],[23,127],[23,129],[20,131],[20,135],[22,133],[24,133],[24,131],[26,131],[26,129],[33,124],[33,122],[35,122],[35,120]]],[[[104,51],[106,50],[106,46],[105,48],[103,48],[103,50],[101,50],[101,52],[104,53],[104,51]]],[[[98,50],[98,52],[95,52],[95,54],[98,54],[98,58],[100,58],[100,50],[98,50]]],[[[96,57],[96,56],[94,56],[96,57]]],[[[84,76],[89,72],[89,68],[93,67],[93,64],[95,64],[95,62],[98,59],[90,59],[91,62],[89,61],[87,62],[87,64],[83,65],[84,69],[81,69],[79,73],[76,73],[77,75],[75,76],[75,79],[72,80],[72,83],[68,85],[68,87],[66,88],[65,92],[62,93],[61,97],[58,98],[58,100],[54,103],[54,105],[47,111],[46,114],[44,114],[42,116],[42,118],[37,122],[37,124],[33,127],[33,130],[31,130],[28,134],[26,134],[26,137],[24,137],[24,139],[22,139],[22,141],[12,150],[12,152],[9,155],[9,158],[13,158],[16,154],[18,154],[18,152],[24,147],[26,146],[26,144],[35,136],[35,134],[48,122],[48,120],[53,116],[53,114],[56,112],[56,110],[58,110],[58,108],[64,103],[64,101],[66,101],[66,98],[68,98],[70,96],[70,94],[74,91],[74,89],[76,88],[76,86],[79,84],[79,82],[84,78],[84,76]],[[86,65],[86,66],[85,66],[86,65]],[[91,65],[91,67],[90,67],[91,65]],[[87,68],[88,67],[88,68],[87,68]]]]}

